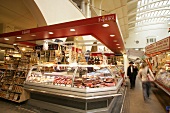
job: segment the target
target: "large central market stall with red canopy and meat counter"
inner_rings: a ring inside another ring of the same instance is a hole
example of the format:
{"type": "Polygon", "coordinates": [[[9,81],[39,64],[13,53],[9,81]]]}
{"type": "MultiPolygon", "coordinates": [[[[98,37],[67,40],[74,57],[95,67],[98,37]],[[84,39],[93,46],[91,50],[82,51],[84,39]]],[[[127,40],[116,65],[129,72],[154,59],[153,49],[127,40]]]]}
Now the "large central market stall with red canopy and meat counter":
{"type": "MultiPolygon", "coordinates": [[[[70,64],[61,65],[55,62],[47,63],[51,59],[56,59],[58,54],[61,56],[62,53],[58,51],[62,43],[53,42],[54,45],[48,45],[51,39],[83,35],[95,37],[110,49],[114,56],[125,53],[115,14],[0,34],[0,43],[18,46],[35,48],[37,47],[35,41],[45,40],[38,51],[37,48],[35,49],[38,65],[34,65],[29,70],[24,84],[25,91],[30,93],[29,104],[70,113],[103,113],[112,110],[115,97],[123,95],[123,91],[120,90],[123,88],[123,78],[114,65],[107,65],[104,59],[101,59],[101,64],[75,65],[78,57],[83,54],[78,52],[82,49],[77,48],[74,42],[71,48],[68,47],[68,55],[72,55],[75,62],[73,60],[70,64]],[[54,47],[56,44],[57,47],[54,47]]],[[[67,48],[67,45],[63,46],[67,48]]],[[[83,57],[80,61],[84,62],[83,57]]]]}

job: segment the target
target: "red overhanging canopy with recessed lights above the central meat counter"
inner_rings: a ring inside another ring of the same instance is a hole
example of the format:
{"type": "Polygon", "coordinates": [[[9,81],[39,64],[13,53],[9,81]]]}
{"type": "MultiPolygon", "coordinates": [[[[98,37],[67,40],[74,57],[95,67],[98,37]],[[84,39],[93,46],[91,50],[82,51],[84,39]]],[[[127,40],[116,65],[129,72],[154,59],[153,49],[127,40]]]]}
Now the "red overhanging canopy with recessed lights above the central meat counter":
{"type": "Polygon", "coordinates": [[[36,40],[83,35],[94,36],[115,54],[125,52],[115,14],[0,34],[0,43],[34,45],[31,43],[36,40]],[[109,26],[103,27],[103,24],[108,24],[109,26]],[[70,31],[70,29],[75,31],[70,31]],[[110,35],[114,36],[111,37],[110,35]]]}

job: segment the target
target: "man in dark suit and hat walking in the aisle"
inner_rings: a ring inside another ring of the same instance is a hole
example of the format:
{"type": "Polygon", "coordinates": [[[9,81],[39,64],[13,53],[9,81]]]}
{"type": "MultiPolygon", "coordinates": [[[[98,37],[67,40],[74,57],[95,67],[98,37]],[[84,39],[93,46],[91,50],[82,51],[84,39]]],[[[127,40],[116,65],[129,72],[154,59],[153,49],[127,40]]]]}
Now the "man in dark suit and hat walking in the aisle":
{"type": "Polygon", "coordinates": [[[130,89],[134,88],[136,78],[133,64],[134,64],[133,62],[129,62],[129,67],[127,69],[127,76],[130,79],[130,89]]]}

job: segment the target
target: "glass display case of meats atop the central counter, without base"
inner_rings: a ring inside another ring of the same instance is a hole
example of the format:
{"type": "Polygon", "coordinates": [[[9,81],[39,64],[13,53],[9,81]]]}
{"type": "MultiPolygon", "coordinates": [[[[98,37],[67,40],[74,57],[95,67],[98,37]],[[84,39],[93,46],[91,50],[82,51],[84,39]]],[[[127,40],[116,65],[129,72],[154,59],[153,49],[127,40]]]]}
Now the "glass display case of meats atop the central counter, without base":
{"type": "MultiPolygon", "coordinates": [[[[96,91],[102,91],[102,94],[104,94],[103,91],[106,91],[106,94],[116,93],[121,83],[122,78],[119,71],[111,65],[72,66],[48,64],[36,65],[31,68],[25,82],[25,88],[39,90],[39,87],[44,87],[48,88],[47,91],[50,88],[65,89],[67,91],[77,91],[77,96],[80,91],[81,93],[84,92],[86,97],[86,92],[93,92],[93,96],[96,91]]],[[[43,89],[43,91],[46,90],[43,89]]],[[[100,94],[96,93],[96,95],[100,94]]]]}

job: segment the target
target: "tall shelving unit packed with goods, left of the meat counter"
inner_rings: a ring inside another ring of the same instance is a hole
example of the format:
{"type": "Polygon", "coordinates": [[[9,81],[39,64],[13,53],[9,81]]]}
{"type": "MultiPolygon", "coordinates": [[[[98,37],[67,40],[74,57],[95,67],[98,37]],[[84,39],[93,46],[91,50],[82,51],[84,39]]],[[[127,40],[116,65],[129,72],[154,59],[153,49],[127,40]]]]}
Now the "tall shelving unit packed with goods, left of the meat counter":
{"type": "Polygon", "coordinates": [[[29,69],[29,57],[14,57],[12,54],[6,53],[5,64],[0,69],[3,70],[0,97],[20,103],[29,98],[29,94],[23,89],[29,69]]]}

